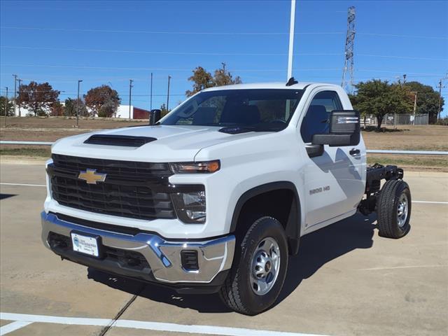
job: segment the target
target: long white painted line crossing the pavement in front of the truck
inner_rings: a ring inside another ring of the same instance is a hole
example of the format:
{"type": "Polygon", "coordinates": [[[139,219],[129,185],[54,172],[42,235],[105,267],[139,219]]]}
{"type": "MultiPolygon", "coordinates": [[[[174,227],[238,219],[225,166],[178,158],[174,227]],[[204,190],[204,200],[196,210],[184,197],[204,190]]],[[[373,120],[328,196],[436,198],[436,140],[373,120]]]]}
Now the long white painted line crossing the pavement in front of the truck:
{"type": "MultiPolygon", "coordinates": [[[[107,318],[79,318],[79,317],[63,317],[63,316],[46,316],[46,315],[29,315],[29,314],[13,314],[0,313],[0,319],[18,321],[21,323],[57,323],[71,325],[99,325],[104,326],[111,323],[107,318]]],[[[10,323],[13,324],[13,323],[10,323]]],[[[8,324],[9,325],[9,324],[8,324]]],[[[8,325],[5,325],[7,327],[8,325]]],[[[25,325],[23,325],[25,326],[25,325]]],[[[160,323],[147,321],[118,320],[112,327],[116,328],[132,328],[143,330],[156,330],[165,332],[185,332],[202,335],[223,335],[223,336],[324,336],[315,334],[302,334],[300,332],[284,332],[276,330],[257,330],[246,328],[230,328],[218,325],[183,325],[176,323],[160,323]]],[[[2,327],[3,328],[3,327],[2,327]]],[[[21,327],[18,327],[21,328],[21,327]]],[[[11,330],[13,331],[13,330],[11,330]]],[[[4,335],[3,333],[1,335],[4,335]]]]}

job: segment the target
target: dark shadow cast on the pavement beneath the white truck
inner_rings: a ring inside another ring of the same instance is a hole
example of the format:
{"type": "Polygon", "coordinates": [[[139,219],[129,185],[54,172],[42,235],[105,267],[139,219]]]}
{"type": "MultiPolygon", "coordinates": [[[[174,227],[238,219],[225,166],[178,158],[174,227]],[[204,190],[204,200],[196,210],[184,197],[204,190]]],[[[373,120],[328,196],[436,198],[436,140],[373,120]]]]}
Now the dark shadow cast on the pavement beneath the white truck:
{"type": "MultiPolygon", "coordinates": [[[[326,262],[356,248],[372,247],[375,228],[372,223],[374,221],[376,221],[374,215],[365,217],[356,214],[356,216],[302,237],[299,254],[290,257],[286,281],[276,304],[293,293],[302,279],[312,276],[326,262]]],[[[177,307],[195,309],[203,313],[231,311],[221,302],[217,294],[183,295],[165,286],[142,283],[141,281],[102,272],[92,267],[89,267],[87,272],[89,279],[156,302],[174,304],[177,307]]]]}

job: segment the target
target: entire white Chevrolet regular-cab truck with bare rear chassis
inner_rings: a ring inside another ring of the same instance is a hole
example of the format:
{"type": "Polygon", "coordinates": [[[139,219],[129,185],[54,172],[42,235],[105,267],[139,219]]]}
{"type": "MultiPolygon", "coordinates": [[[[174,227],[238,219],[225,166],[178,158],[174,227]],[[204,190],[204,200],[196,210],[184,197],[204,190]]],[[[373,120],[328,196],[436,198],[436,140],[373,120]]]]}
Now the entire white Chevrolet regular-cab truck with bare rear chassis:
{"type": "Polygon", "coordinates": [[[402,169],[367,167],[339,86],[214,87],[158,113],[52,146],[45,246],[179,293],[219,292],[253,315],[276,301],[303,235],[356,211],[375,211],[383,237],[409,231],[402,169]]]}

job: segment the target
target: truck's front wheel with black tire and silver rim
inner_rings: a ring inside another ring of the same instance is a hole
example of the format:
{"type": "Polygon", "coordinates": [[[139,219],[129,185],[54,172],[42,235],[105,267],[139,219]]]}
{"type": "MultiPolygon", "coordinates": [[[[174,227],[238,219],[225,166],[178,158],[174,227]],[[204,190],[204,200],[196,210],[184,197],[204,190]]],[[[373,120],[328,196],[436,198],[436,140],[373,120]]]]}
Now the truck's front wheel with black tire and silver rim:
{"type": "Polygon", "coordinates": [[[281,223],[259,218],[247,230],[240,251],[220,297],[241,314],[259,314],[272,307],[285,281],[288,244],[281,223]]]}

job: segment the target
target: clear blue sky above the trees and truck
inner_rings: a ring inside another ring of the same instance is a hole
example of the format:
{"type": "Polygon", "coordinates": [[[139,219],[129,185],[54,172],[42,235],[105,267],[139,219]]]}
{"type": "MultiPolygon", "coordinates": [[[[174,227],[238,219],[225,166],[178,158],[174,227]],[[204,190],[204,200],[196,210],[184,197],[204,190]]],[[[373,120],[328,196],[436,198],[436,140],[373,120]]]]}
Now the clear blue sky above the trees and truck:
{"type": "MultiPolygon", "coordinates": [[[[355,75],[407,74],[435,87],[448,72],[448,1],[297,1],[293,75],[341,82],[346,12],[356,7],[355,75]]],[[[286,81],[290,1],[1,1],[1,94],[11,74],[48,81],[61,99],[107,84],[149,109],[185,99],[195,66],[244,83],[286,81]]],[[[442,89],[448,99],[448,80],[442,89]]],[[[444,115],[447,115],[445,108],[444,115]]]]}

